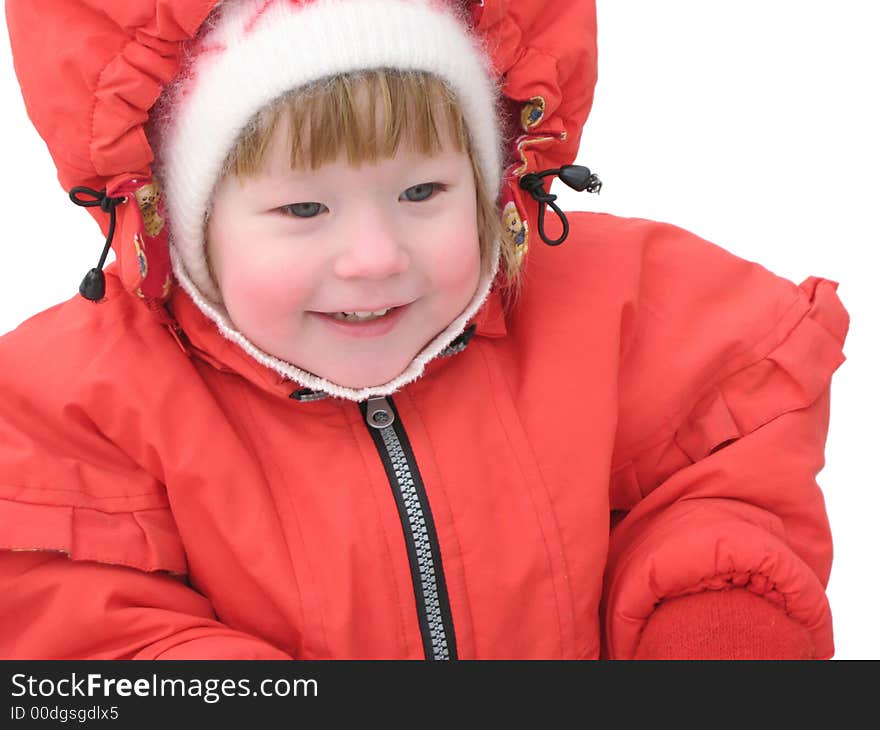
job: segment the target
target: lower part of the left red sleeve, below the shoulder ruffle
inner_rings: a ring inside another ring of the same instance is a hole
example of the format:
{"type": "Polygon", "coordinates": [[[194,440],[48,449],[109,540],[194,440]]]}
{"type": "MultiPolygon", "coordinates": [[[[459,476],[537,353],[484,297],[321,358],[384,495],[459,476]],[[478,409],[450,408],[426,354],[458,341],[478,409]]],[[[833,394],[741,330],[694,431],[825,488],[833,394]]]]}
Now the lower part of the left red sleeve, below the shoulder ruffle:
{"type": "Polygon", "coordinates": [[[290,659],[218,622],[180,576],[0,551],[0,658],[290,659]]]}

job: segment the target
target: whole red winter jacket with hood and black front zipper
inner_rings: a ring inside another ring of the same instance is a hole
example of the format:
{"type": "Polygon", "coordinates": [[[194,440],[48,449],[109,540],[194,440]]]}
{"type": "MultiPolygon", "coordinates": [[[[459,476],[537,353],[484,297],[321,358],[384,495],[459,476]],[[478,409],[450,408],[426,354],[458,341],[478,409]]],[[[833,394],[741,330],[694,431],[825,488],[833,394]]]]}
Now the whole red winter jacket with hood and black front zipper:
{"type": "MultiPolygon", "coordinates": [[[[66,188],[149,179],[140,125],[213,5],[7,2],[66,188]]],[[[483,6],[512,108],[542,101],[510,140],[515,183],[574,159],[595,13],[483,6]]],[[[0,656],[734,656],[755,624],[833,654],[815,477],[849,324],[836,282],[570,213],[562,246],[533,235],[516,306],[493,292],[463,350],[379,403],[380,430],[368,404],[292,398],[163,296],[137,206],[119,210],[105,299],[0,338],[0,656]],[[718,615],[714,647],[683,638],[682,616],[718,615]]]]}

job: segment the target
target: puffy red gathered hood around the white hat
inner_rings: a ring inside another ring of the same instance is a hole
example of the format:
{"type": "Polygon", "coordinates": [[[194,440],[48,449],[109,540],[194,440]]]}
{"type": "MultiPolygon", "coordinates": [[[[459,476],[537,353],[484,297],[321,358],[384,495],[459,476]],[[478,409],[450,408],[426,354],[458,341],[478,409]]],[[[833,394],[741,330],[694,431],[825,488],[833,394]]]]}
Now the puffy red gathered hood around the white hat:
{"type": "MultiPolygon", "coordinates": [[[[113,248],[125,288],[148,300],[167,300],[173,282],[167,252],[160,250],[167,247],[165,239],[151,240],[144,231],[143,218],[155,214],[155,207],[134,200],[134,191],[152,174],[144,124],[179,70],[183,43],[217,1],[6,2],[28,114],[46,141],[61,185],[107,188],[135,202],[117,209],[113,248]]],[[[595,2],[460,1],[487,41],[509,102],[501,206],[513,200],[529,224],[537,218],[537,203],[515,184],[518,177],[572,163],[592,106],[595,2]]],[[[100,208],[89,212],[106,233],[107,214],[100,208]]],[[[98,251],[96,246],[96,260],[98,251]]]]}

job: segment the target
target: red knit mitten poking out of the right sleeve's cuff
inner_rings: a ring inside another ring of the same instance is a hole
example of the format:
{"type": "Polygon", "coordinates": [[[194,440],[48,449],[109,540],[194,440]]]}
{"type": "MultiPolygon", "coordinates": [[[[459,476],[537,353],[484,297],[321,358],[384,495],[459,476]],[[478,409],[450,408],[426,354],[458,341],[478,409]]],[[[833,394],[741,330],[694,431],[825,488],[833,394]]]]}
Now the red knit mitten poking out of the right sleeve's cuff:
{"type": "Polygon", "coordinates": [[[812,659],[810,632],[745,588],[663,601],[634,659],[812,659]]]}

